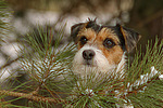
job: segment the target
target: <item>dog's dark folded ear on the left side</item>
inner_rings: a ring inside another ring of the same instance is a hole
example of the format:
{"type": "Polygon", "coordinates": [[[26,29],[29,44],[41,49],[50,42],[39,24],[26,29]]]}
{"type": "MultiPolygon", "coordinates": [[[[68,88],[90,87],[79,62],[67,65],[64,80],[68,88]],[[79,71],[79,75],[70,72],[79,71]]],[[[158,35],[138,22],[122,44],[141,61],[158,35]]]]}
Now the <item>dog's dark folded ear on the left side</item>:
{"type": "Polygon", "coordinates": [[[84,28],[84,23],[75,24],[71,27],[71,37],[73,38],[74,42],[77,42],[77,35],[82,28],[84,28]]]}

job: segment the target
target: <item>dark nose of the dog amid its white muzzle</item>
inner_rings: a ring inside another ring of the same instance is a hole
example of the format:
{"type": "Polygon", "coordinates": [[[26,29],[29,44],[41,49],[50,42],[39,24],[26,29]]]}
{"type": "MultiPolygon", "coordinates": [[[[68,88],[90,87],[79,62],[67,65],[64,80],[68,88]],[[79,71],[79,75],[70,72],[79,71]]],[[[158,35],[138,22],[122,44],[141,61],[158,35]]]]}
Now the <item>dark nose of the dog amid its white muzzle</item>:
{"type": "Polygon", "coordinates": [[[85,50],[83,52],[84,59],[92,59],[95,56],[95,52],[92,50],[85,50]]]}

